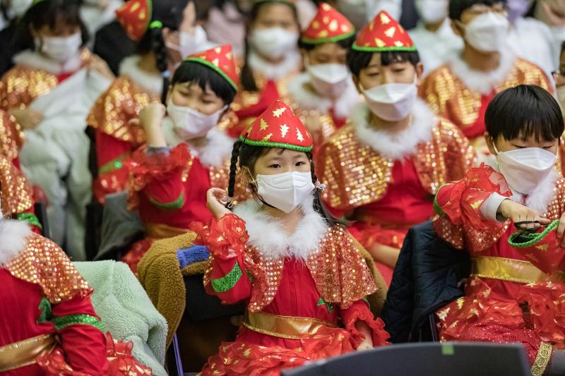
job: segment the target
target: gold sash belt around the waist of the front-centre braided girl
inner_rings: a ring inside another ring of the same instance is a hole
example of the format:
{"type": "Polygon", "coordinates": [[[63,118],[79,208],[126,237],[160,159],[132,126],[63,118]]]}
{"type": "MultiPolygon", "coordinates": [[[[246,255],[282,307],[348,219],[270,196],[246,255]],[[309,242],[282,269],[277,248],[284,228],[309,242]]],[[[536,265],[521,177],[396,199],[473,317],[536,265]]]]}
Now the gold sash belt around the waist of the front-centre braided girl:
{"type": "Polygon", "coordinates": [[[300,339],[304,334],[315,334],[321,327],[336,327],[331,322],[309,317],[280,316],[264,312],[247,312],[243,325],[255,332],[286,339],[300,339]]]}

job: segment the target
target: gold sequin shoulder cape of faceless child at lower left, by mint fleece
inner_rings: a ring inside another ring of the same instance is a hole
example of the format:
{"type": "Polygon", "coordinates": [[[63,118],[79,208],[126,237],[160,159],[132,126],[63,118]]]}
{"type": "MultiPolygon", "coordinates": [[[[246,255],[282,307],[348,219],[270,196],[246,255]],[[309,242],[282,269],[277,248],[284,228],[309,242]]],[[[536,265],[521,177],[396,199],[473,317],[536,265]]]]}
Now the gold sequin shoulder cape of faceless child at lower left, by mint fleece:
{"type": "Polygon", "coordinates": [[[6,269],[16,278],[41,286],[50,303],[93,292],[59,245],[37,234],[28,237],[25,250],[6,269]]]}

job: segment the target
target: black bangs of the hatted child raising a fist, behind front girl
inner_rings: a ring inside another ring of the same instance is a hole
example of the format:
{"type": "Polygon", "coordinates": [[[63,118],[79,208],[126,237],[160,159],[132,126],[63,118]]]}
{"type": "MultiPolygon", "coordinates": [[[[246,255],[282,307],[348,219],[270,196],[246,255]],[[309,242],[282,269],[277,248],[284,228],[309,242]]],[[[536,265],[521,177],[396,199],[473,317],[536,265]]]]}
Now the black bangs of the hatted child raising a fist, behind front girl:
{"type": "Polygon", "coordinates": [[[220,73],[195,61],[181,63],[172,76],[171,87],[177,83],[196,83],[202,90],[206,90],[206,85],[210,85],[210,89],[222,98],[224,104],[230,105],[234,101],[234,87],[220,73]]]}

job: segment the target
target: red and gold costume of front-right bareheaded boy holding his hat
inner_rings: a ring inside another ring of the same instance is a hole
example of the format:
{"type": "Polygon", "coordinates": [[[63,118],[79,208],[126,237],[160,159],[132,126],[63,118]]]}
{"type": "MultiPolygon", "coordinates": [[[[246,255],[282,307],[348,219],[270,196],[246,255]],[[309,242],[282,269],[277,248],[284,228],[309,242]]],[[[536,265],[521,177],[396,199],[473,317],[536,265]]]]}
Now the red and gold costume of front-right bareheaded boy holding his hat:
{"type": "MultiPolygon", "coordinates": [[[[545,198],[540,204],[545,210],[537,210],[548,219],[559,219],[565,212],[564,179],[553,174],[540,185],[547,190],[537,193],[545,198]]],[[[548,235],[545,243],[511,246],[509,237],[517,231],[513,223],[487,219],[483,212],[494,193],[528,206],[540,201],[513,193],[504,176],[484,164],[436,195],[436,233],[472,257],[465,296],[436,312],[441,340],[522,342],[533,375],[542,375],[552,346],[565,345],[565,269],[560,262],[565,251],[558,247],[555,233],[553,243],[548,235]]]]}

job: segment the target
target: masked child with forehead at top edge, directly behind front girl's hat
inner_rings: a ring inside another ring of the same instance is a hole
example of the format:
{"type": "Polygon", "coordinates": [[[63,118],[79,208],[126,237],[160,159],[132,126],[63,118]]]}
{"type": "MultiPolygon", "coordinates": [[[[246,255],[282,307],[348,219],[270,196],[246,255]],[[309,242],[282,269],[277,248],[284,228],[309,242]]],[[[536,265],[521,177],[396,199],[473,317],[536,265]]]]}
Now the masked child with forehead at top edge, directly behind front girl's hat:
{"type": "Polygon", "coordinates": [[[236,99],[237,126],[232,137],[287,92],[290,78],[301,70],[299,23],[295,0],[253,0],[246,25],[242,91],[236,99]]]}

